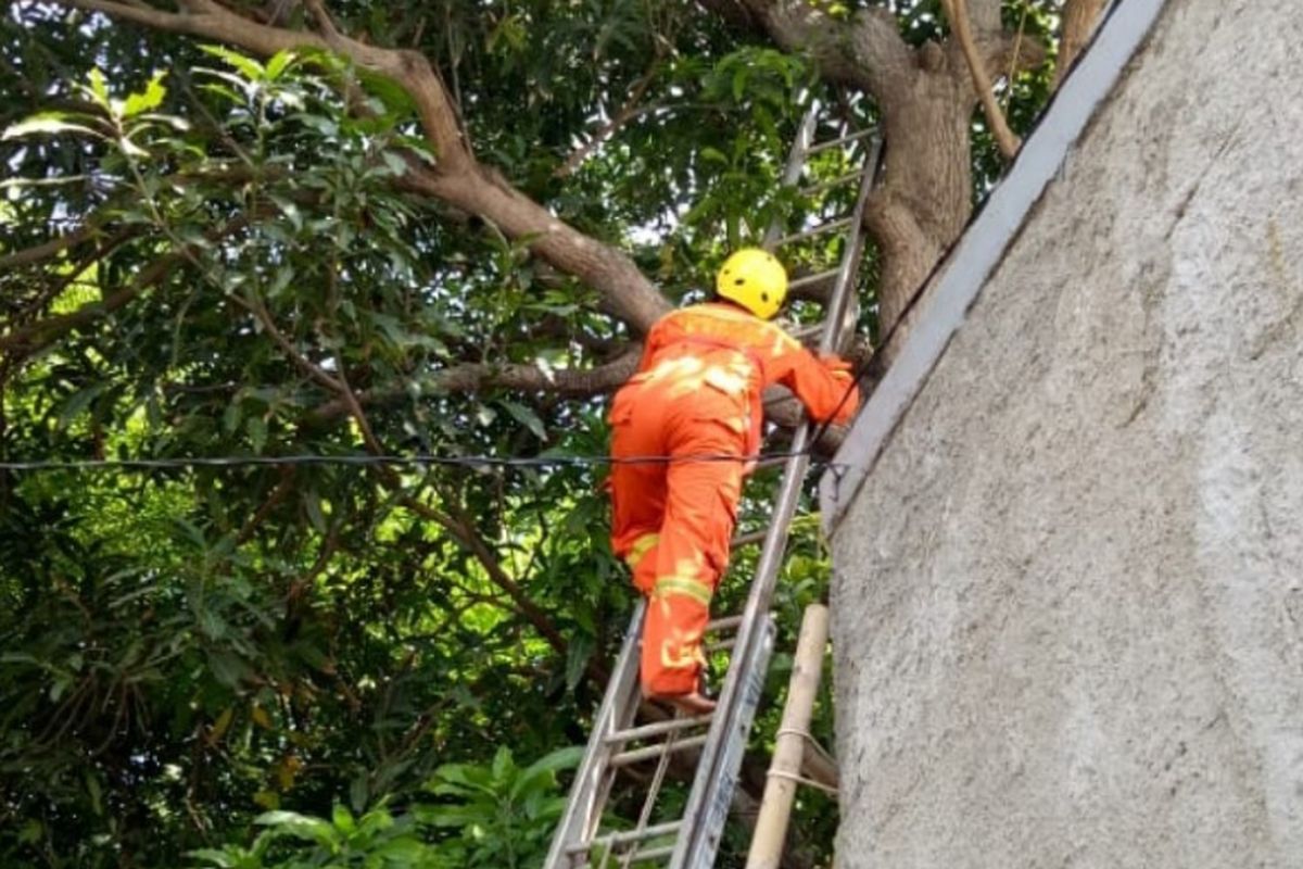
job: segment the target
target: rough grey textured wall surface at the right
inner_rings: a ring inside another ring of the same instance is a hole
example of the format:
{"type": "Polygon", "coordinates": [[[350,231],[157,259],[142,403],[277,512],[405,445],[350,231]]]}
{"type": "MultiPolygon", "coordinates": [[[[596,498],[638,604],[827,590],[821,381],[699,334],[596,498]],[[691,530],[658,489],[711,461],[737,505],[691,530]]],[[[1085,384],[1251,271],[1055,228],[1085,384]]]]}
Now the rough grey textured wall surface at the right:
{"type": "Polygon", "coordinates": [[[1299,46],[1169,0],[838,528],[840,869],[1303,866],[1299,46]]]}

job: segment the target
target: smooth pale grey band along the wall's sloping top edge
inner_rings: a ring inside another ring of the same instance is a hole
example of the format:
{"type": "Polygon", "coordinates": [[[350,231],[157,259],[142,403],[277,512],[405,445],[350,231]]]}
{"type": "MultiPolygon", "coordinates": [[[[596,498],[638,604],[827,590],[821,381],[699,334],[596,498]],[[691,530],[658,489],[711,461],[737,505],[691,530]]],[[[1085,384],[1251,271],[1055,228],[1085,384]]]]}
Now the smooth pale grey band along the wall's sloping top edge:
{"type": "Polygon", "coordinates": [[[864,485],[896,423],[951,336],[963,323],[986,278],[1018,235],[1068,151],[1113,91],[1122,70],[1144,42],[1165,0],[1122,0],[1100,26],[1018,154],[1009,175],[990,194],[981,212],[951,251],[949,262],[925,291],[924,309],[900,356],[860,410],[842,442],[833,468],[820,481],[823,528],[831,534],[864,485]]]}

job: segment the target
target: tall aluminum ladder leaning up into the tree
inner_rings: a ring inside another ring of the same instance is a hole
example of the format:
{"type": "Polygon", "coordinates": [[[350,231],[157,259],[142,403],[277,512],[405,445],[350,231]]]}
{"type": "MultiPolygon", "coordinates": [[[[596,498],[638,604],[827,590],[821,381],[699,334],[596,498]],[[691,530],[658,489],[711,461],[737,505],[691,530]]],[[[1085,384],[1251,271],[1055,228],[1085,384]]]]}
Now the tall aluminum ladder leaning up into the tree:
{"type": "MultiPolygon", "coordinates": [[[[790,284],[794,294],[809,285],[833,281],[827,294],[818,349],[830,353],[853,332],[857,315],[855,283],[863,254],[864,205],[873,185],[881,137],[874,128],[851,129],[848,122],[829,124],[829,109],[813,102],[799,128],[782,184],[816,197],[837,185],[853,188],[850,212],[831,220],[784,233],[775,221],[765,236],[765,248],[778,250],[808,242],[818,236],[839,233],[844,240],[834,268],[797,276],[790,284]],[[816,132],[833,126],[833,137],[816,142],[816,132]],[[857,164],[851,172],[801,185],[810,158],[829,149],[842,150],[842,163],[857,164]]],[[[843,188],[844,189],[844,188],[843,188]]],[[[797,331],[796,334],[800,334],[797,331]]],[[[805,447],[812,436],[809,425],[800,425],[786,460],[778,500],[764,535],[745,607],[740,615],[713,620],[706,629],[706,654],[728,653],[728,670],[711,714],[676,714],[662,720],[636,724],[642,705],[638,688],[638,651],[645,602],[633,610],[628,633],[616,659],[606,696],[593,720],[588,749],[580,762],[569,799],[562,816],[543,869],[627,869],[629,866],[668,866],[670,869],[709,869],[723,834],[732,801],[743,752],[765,684],[774,646],[774,619],[770,601],[778,568],[787,547],[788,525],[800,499],[809,466],[805,447]],[[694,767],[692,790],[681,816],[674,821],[653,821],[657,799],[674,758],[694,767]],[[638,819],[628,829],[609,829],[606,804],[622,770],[650,769],[644,773],[645,795],[638,819]]],[[[735,538],[736,547],[739,538],[735,538]]],[[[657,707],[658,709],[658,707],[657,707]]],[[[646,711],[646,710],[645,710],[646,711]]],[[[655,711],[655,710],[649,710],[655,711]]]]}

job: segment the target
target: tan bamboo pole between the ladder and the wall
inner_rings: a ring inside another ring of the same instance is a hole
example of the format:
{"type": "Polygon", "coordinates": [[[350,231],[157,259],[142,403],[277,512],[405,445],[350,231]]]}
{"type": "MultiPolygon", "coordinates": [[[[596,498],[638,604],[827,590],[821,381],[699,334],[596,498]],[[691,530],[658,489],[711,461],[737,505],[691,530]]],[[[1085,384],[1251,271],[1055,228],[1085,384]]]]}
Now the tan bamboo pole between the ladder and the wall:
{"type": "Polygon", "coordinates": [[[787,823],[796,799],[796,779],[805,754],[805,734],[814,711],[814,697],[823,671],[823,649],[827,646],[827,607],[816,603],[805,607],[801,633],[796,641],[796,661],[787,685],[783,723],[774,741],[774,760],[769,765],[765,796],[756,818],[756,833],[747,855],[747,869],[778,869],[783,860],[787,823]]]}

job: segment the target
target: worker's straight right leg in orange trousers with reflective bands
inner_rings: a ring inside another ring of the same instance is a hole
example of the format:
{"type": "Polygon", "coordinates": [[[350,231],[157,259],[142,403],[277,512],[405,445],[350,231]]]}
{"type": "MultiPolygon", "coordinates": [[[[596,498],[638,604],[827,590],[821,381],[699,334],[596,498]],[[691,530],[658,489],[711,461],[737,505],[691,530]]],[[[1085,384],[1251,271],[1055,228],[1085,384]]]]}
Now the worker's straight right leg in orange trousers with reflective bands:
{"type": "MultiPolygon", "coordinates": [[[[692,456],[741,455],[743,435],[715,420],[675,426],[666,479],[665,521],[655,547],[654,582],[642,636],[642,687],[655,697],[694,694],[705,655],[710,598],[728,564],[740,461],[692,456]]],[[[641,567],[641,565],[640,565],[641,567]]]]}

